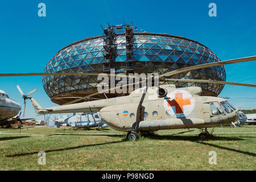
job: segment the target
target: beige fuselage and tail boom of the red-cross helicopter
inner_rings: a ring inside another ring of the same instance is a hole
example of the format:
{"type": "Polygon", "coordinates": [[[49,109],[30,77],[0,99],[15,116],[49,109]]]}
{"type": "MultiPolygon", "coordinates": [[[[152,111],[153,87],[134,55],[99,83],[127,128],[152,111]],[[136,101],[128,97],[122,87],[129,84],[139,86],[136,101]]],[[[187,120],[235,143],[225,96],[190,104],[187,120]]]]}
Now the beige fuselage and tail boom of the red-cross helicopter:
{"type": "Polygon", "coordinates": [[[200,87],[140,88],[129,96],[42,108],[30,97],[38,114],[99,112],[104,122],[119,131],[156,131],[229,125],[238,115],[224,98],[202,96],[200,87]]]}

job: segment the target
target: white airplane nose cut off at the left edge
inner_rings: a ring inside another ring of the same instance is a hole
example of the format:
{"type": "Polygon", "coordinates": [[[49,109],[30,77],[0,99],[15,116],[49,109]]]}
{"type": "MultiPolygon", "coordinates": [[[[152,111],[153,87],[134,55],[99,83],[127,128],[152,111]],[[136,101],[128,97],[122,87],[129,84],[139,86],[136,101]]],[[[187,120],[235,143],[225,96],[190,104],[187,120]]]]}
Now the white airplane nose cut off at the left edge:
{"type": "Polygon", "coordinates": [[[11,126],[12,123],[26,121],[32,118],[20,119],[21,106],[11,100],[5,91],[0,90],[0,126],[11,126]]]}

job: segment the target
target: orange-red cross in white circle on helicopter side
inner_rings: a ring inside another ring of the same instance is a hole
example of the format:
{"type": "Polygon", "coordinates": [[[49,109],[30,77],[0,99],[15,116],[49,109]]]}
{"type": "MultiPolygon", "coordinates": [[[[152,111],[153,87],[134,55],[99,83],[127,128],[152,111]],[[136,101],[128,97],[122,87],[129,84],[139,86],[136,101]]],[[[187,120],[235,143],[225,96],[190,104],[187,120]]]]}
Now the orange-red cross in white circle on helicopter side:
{"type": "Polygon", "coordinates": [[[182,98],[182,93],[176,93],[174,100],[167,100],[168,107],[175,106],[176,114],[184,113],[183,106],[185,105],[191,105],[190,99],[182,98]]]}

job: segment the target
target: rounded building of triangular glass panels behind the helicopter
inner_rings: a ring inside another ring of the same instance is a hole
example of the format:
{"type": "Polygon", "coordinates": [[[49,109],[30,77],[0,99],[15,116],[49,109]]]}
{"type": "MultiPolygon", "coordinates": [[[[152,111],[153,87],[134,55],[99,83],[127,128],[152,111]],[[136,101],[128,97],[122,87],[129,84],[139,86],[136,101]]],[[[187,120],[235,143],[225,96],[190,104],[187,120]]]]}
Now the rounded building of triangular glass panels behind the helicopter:
{"type": "MultiPolygon", "coordinates": [[[[104,73],[114,65],[117,72],[159,73],[159,75],[184,67],[220,61],[218,57],[194,40],[168,34],[133,32],[129,40],[126,33],[114,35],[114,53],[108,55],[106,36],[90,37],[64,47],[47,63],[44,72],[55,73],[104,73]],[[128,44],[127,42],[130,42],[128,44]],[[129,46],[132,46],[130,49],[129,46]],[[114,55],[114,56],[113,56],[114,55]]],[[[196,80],[226,80],[223,65],[197,69],[166,78],[184,78],[196,80]]],[[[64,104],[75,98],[97,92],[101,81],[97,76],[43,76],[43,86],[51,100],[64,104]]],[[[160,82],[175,84],[177,88],[200,86],[205,96],[217,96],[224,85],[198,84],[185,82],[160,82]]],[[[117,94],[107,95],[115,97],[117,94]]],[[[97,95],[96,98],[105,98],[97,95]]]]}

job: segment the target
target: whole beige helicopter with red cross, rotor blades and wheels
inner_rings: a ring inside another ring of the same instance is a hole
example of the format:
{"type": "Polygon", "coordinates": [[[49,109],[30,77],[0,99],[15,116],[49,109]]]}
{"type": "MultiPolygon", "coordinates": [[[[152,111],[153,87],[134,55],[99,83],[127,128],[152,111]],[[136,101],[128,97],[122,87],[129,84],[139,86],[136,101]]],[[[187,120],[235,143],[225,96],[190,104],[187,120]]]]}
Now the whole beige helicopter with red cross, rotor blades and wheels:
{"type": "MultiPolygon", "coordinates": [[[[256,56],[243,57],[227,61],[200,64],[192,67],[176,69],[159,76],[140,78],[139,83],[159,79],[161,81],[203,82],[213,84],[229,84],[256,87],[253,84],[226,82],[216,80],[180,80],[170,77],[181,72],[213,67],[217,65],[254,61],[256,56]]],[[[96,73],[2,73],[0,76],[33,76],[33,75],[89,75],[96,73]]],[[[133,83],[134,84],[134,83],[133,83]]],[[[127,84],[129,85],[129,84],[127,84]]],[[[122,86],[127,86],[122,85],[122,86]]],[[[115,87],[117,88],[117,87],[115,87]]],[[[112,90],[115,88],[110,88],[112,90]]],[[[126,131],[128,140],[138,140],[138,133],[168,129],[199,128],[200,138],[210,137],[208,127],[229,125],[239,117],[238,110],[225,98],[202,96],[202,89],[198,86],[176,88],[175,85],[144,86],[131,92],[128,96],[106,98],[74,104],[77,101],[92,97],[97,93],[79,98],[67,104],[43,108],[33,97],[30,99],[34,110],[38,114],[53,113],[89,113],[99,112],[107,125],[115,130],[126,131]]]]}

